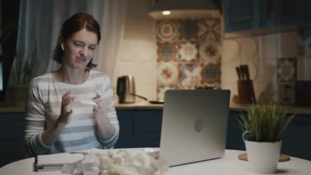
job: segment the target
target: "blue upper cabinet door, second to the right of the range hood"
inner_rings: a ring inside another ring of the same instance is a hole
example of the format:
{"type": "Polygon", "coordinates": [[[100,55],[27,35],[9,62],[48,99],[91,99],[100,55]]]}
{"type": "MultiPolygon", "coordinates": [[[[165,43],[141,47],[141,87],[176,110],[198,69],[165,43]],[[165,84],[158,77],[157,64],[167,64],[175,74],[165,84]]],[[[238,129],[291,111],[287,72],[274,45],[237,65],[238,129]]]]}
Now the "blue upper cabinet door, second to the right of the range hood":
{"type": "Polygon", "coordinates": [[[306,0],[261,0],[261,28],[303,24],[306,3],[306,0]]]}

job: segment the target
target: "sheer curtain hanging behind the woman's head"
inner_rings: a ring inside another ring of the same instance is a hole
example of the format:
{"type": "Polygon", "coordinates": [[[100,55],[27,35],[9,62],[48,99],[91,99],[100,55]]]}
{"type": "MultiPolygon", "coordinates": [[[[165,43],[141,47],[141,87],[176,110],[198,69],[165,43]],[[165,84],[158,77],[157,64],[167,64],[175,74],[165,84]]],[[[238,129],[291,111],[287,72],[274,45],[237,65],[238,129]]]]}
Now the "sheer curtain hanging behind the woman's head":
{"type": "Polygon", "coordinates": [[[21,0],[16,59],[35,53],[33,76],[59,68],[51,59],[64,20],[75,13],[92,14],[101,27],[101,41],[93,62],[98,71],[114,78],[117,53],[124,29],[126,0],[21,0]]]}

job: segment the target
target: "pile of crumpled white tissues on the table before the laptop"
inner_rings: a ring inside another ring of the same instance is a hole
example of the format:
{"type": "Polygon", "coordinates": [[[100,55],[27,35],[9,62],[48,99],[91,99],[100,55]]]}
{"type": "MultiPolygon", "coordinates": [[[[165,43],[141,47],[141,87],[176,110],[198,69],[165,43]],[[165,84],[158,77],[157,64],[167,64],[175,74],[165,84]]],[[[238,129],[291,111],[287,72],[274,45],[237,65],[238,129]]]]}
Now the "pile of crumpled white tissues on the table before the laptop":
{"type": "Polygon", "coordinates": [[[162,175],[167,162],[154,159],[143,151],[109,150],[107,153],[91,152],[84,159],[62,167],[62,173],[73,175],[162,175]]]}

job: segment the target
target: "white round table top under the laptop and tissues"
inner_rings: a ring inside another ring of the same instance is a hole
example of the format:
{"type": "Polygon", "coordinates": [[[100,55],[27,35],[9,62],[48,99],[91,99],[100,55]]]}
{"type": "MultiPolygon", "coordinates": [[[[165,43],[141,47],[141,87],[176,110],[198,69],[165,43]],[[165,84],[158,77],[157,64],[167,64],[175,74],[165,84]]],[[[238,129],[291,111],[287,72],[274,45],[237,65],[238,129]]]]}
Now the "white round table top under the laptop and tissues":
{"type": "MultiPolygon", "coordinates": [[[[142,148],[135,148],[131,150],[142,150],[142,148]]],[[[239,154],[245,151],[226,150],[225,156],[220,159],[203,161],[198,163],[191,163],[187,165],[180,165],[170,167],[165,173],[166,175],[189,175],[189,174],[230,174],[243,175],[253,174],[248,171],[248,162],[238,160],[239,154]]],[[[0,175],[30,175],[30,174],[63,174],[60,171],[51,172],[34,172],[33,171],[34,158],[24,159],[10,163],[0,168],[0,175]]],[[[279,174],[311,174],[311,161],[291,157],[290,161],[278,163],[279,174]]]]}

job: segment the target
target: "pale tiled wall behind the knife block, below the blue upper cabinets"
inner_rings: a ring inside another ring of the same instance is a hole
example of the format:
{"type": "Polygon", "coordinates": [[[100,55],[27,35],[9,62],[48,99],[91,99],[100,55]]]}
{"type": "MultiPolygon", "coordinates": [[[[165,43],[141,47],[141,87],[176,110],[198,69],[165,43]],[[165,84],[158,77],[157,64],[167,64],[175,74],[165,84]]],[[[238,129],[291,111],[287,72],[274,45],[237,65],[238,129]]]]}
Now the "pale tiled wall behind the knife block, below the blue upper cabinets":
{"type": "Polygon", "coordinates": [[[222,88],[231,90],[231,97],[237,95],[235,67],[248,64],[256,99],[263,102],[279,101],[278,58],[297,58],[297,80],[311,79],[311,56],[307,56],[310,52],[307,41],[302,41],[297,31],[225,39],[221,62],[222,88]],[[301,47],[306,47],[303,53],[299,51],[301,47]]]}

